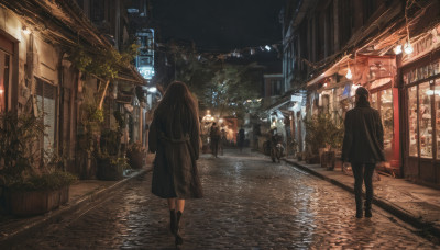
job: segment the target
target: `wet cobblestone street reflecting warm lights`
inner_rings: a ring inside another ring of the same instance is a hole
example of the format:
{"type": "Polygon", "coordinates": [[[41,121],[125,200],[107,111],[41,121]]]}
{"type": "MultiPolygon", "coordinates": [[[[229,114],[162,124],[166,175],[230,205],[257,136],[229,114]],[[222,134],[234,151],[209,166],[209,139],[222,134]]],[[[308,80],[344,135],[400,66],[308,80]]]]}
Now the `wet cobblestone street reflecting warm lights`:
{"type": "MultiPolygon", "coordinates": [[[[205,198],[187,201],[183,249],[438,248],[378,207],[356,219],[351,193],[260,154],[227,150],[198,162],[205,198]]],[[[151,194],[151,177],[14,249],[173,249],[167,204],[151,194]]]]}

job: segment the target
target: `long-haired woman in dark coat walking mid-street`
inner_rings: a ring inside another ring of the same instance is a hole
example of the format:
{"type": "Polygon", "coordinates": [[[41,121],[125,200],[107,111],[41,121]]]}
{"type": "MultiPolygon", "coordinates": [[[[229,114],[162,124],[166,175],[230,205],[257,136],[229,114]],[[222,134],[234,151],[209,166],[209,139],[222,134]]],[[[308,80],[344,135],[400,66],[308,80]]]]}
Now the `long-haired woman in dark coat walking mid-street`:
{"type": "Polygon", "coordinates": [[[169,84],[154,112],[148,137],[150,150],[156,152],[152,193],[167,198],[169,227],[179,246],[184,242],[179,228],[185,200],[202,197],[197,171],[198,109],[185,83],[169,84]]]}

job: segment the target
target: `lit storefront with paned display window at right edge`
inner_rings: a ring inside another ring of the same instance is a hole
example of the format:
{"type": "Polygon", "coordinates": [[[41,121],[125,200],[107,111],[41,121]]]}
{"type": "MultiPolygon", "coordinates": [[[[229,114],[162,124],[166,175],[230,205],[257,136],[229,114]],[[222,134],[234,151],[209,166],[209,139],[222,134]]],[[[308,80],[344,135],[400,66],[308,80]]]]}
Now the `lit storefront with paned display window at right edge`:
{"type": "Polygon", "coordinates": [[[440,184],[440,26],[414,44],[403,58],[406,116],[405,177],[440,184]]]}

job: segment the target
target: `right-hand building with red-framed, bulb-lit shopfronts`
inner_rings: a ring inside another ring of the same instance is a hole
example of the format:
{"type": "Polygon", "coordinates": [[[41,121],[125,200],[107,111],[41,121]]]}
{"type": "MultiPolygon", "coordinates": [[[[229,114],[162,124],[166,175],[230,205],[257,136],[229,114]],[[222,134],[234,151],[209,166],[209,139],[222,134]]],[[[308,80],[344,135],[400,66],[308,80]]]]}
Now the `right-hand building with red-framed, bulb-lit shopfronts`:
{"type": "Polygon", "coordinates": [[[300,116],[326,112],[341,124],[355,89],[367,88],[385,130],[378,169],[435,186],[439,9],[438,1],[288,1],[283,19],[287,91],[307,89],[300,116]]]}

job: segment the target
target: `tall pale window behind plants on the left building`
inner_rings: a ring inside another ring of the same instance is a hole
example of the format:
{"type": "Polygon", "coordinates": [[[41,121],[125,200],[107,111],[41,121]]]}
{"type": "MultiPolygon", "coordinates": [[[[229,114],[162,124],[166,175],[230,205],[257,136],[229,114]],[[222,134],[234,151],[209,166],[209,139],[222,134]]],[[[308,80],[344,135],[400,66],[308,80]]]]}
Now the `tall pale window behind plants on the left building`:
{"type": "Polygon", "coordinates": [[[45,133],[42,141],[44,150],[51,152],[55,143],[56,87],[43,80],[36,80],[36,105],[38,114],[43,114],[45,133]]]}

